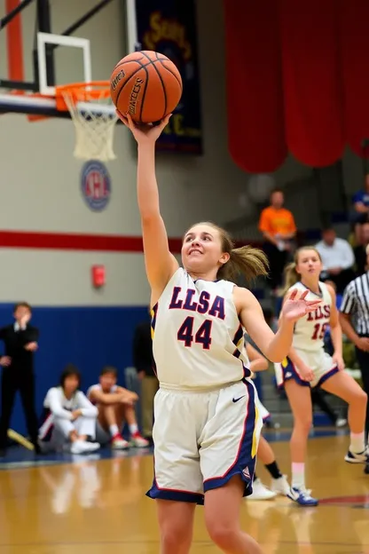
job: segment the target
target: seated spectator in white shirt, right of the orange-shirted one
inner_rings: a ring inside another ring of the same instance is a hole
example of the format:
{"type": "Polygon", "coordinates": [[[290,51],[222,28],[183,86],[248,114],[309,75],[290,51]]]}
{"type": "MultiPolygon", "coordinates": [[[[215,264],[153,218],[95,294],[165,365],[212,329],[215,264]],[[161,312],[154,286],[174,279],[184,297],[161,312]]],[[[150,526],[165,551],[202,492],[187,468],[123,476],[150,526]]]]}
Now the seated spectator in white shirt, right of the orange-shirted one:
{"type": "Polygon", "coordinates": [[[320,275],[322,281],[334,281],[338,294],[342,294],[345,287],[355,277],[353,265],[355,263],[354,252],[348,241],[337,238],[331,227],[325,229],[322,241],[316,245],[316,249],[322,259],[323,271],[320,275]]]}

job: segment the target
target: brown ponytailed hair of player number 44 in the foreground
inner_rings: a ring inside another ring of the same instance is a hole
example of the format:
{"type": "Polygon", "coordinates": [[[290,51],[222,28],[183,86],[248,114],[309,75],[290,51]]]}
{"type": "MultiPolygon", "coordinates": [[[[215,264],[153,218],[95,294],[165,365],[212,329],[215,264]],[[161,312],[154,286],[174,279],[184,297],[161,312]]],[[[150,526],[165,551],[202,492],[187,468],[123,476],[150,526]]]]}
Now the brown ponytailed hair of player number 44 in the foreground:
{"type": "Polygon", "coordinates": [[[195,224],[195,226],[198,225],[213,227],[220,235],[223,252],[227,252],[230,255],[228,262],[219,267],[216,275],[218,279],[234,281],[237,275],[241,273],[246,277],[247,281],[252,281],[259,275],[268,274],[268,258],[263,253],[263,250],[256,249],[250,245],[234,248],[234,242],[230,233],[227,233],[222,227],[210,221],[202,221],[195,224]]]}

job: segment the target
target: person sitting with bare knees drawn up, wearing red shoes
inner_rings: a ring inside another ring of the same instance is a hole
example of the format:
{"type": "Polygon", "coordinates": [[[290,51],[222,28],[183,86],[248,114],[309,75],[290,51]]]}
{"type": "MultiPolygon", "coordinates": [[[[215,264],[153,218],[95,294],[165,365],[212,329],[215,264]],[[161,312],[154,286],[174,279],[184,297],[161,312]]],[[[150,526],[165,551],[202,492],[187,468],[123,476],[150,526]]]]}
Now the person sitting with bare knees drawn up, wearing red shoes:
{"type": "Polygon", "coordinates": [[[148,447],[149,441],[141,437],[136,420],[136,392],[128,391],[116,384],[117,371],[106,366],[101,371],[99,383],[90,386],[87,396],[98,408],[97,439],[103,445],[111,442],[119,450],[134,447],[148,447]],[[122,438],[123,423],[130,429],[130,443],[122,438]]]}

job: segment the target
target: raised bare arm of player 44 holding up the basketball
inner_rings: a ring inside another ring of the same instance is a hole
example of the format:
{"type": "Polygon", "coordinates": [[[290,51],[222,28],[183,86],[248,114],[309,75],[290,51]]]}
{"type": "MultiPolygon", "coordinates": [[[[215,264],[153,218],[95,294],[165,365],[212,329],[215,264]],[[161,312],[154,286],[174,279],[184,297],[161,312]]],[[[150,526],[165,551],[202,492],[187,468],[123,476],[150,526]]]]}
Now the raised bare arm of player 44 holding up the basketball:
{"type": "Polygon", "coordinates": [[[145,267],[153,290],[153,301],[161,296],[169,279],[177,271],[176,258],[169,252],[168,235],[161,218],[159,191],[155,176],[155,142],[169,122],[169,115],[159,125],[136,125],[130,115],[118,114],[137,140],[137,201],[144,240],[145,267]]]}

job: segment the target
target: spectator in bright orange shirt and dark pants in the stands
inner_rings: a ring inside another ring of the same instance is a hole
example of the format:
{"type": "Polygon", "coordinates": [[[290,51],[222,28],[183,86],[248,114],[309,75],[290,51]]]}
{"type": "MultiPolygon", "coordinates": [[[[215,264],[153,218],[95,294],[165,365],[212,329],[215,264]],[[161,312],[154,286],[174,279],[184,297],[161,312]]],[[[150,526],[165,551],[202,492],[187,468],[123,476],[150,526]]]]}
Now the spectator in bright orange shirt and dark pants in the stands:
{"type": "Polygon", "coordinates": [[[279,188],[271,192],[271,205],[260,215],[259,230],[263,233],[265,254],[271,266],[270,284],[274,293],[282,284],[283,268],[296,234],[294,216],[283,207],[285,197],[279,188]]]}

